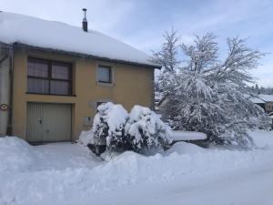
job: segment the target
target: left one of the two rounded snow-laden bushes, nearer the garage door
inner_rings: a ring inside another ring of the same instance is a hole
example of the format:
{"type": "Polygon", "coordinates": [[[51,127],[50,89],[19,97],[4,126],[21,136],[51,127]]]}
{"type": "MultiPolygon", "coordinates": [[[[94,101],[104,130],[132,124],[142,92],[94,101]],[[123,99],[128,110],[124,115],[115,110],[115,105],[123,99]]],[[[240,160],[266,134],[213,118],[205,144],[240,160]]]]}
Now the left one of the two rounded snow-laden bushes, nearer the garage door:
{"type": "Polygon", "coordinates": [[[128,113],[121,105],[111,102],[100,105],[93,123],[93,143],[106,145],[107,149],[114,150],[126,146],[124,128],[128,113]]]}

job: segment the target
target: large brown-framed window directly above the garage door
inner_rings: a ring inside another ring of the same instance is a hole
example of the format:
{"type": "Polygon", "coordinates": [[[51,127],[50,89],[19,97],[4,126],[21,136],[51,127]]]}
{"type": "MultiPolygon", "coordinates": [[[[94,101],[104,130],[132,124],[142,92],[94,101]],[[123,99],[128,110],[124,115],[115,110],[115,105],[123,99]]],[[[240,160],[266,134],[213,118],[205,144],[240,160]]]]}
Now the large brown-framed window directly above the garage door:
{"type": "Polygon", "coordinates": [[[27,92],[71,95],[71,64],[29,57],[27,61],[27,92]]]}

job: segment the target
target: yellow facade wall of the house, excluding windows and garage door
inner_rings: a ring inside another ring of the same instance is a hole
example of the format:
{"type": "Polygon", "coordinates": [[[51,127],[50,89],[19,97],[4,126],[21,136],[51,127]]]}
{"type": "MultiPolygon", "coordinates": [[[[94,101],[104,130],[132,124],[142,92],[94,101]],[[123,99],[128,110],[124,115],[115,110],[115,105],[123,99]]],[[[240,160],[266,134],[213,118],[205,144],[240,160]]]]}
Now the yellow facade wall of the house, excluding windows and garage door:
{"type": "Polygon", "coordinates": [[[97,101],[122,104],[128,111],[134,105],[153,106],[154,69],[126,64],[98,61],[96,59],[66,56],[54,53],[17,49],[14,60],[13,134],[26,139],[27,102],[69,103],[72,110],[72,138],[76,139],[84,127],[84,117],[94,117],[97,101]],[[27,57],[40,57],[73,64],[74,96],[27,94],[27,57]],[[97,65],[111,66],[113,85],[96,82],[97,65]]]}

